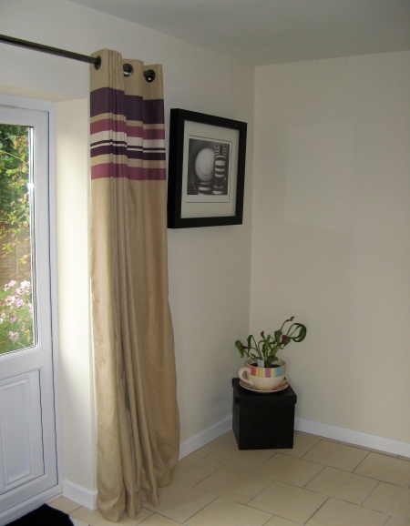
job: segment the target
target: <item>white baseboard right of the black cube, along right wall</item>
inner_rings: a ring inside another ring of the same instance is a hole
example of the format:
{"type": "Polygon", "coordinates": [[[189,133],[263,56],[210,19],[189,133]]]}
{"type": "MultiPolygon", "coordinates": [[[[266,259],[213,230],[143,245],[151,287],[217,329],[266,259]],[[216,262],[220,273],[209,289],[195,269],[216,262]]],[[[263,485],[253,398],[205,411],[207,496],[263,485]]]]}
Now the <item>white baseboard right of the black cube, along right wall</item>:
{"type": "Polygon", "coordinates": [[[387,439],[363,431],[348,430],[314,420],[295,418],[294,429],[303,433],[310,433],[325,439],[340,440],[355,446],[362,446],[372,450],[384,451],[393,455],[410,457],[410,444],[400,440],[387,439]]]}

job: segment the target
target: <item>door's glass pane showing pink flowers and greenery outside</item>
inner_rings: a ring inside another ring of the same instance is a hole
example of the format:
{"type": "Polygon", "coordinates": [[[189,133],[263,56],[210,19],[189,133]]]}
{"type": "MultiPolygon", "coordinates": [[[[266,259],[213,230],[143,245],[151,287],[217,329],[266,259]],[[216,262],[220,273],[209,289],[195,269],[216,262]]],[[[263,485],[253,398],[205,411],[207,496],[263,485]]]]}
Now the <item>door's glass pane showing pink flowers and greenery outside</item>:
{"type": "Polygon", "coordinates": [[[33,128],[0,124],[0,354],[36,343],[33,128]]]}

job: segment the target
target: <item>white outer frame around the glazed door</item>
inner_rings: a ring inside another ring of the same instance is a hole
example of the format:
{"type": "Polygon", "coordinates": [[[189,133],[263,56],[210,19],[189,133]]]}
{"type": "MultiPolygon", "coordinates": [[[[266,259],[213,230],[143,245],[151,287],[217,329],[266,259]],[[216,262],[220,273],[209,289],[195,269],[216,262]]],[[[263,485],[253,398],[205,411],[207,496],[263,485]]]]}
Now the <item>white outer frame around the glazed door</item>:
{"type": "MultiPolygon", "coordinates": [[[[57,326],[57,266],[56,266],[56,125],[55,106],[48,101],[29,99],[16,96],[3,96],[0,94],[1,106],[12,106],[22,109],[31,109],[47,112],[49,119],[48,128],[48,175],[49,175],[49,251],[50,251],[50,286],[51,286],[51,328],[53,336],[53,379],[56,415],[56,460],[57,483],[56,486],[37,494],[7,511],[0,511],[0,525],[36,509],[46,501],[62,493],[62,480],[64,479],[62,462],[62,425],[61,403],[59,386],[59,357],[58,357],[58,326],[57,326]]],[[[22,352],[22,351],[20,351],[22,352]]],[[[24,351],[23,351],[24,352],[24,351]]]]}

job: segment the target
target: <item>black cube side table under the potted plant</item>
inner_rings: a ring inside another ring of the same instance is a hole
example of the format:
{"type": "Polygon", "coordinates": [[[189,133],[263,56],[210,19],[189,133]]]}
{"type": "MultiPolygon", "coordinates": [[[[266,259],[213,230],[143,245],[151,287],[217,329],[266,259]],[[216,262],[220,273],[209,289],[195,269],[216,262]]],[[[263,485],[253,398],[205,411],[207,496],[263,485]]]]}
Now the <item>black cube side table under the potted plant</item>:
{"type": "Polygon", "coordinates": [[[240,450],[293,447],[296,394],[289,386],[275,393],[256,393],[232,379],[232,427],[240,450]]]}

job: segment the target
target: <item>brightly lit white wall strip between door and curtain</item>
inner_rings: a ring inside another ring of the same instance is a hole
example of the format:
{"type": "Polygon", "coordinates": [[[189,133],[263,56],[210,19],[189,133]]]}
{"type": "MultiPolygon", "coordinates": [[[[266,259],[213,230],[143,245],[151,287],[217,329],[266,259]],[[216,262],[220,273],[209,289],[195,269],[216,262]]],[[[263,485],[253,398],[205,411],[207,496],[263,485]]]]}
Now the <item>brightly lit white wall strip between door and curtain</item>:
{"type": "Polygon", "coordinates": [[[58,327],[64,491],[85,505],[97,490],[96,425],[88,277],[88,124],[86,99],[56,105],[58,327]],[[73,207],[75,213],[73,213],[73,207]],[[80,432],[78,432],[80,430],[80,432]],[[83,436],[84,435],[84,436],[83,436]],[[78,466],[83,466],[78,470],[78,466]],[[91,494],[90,494],[91,492],[91,494]],[[83,497],[84,498],[84,497],[83,497]]]}

